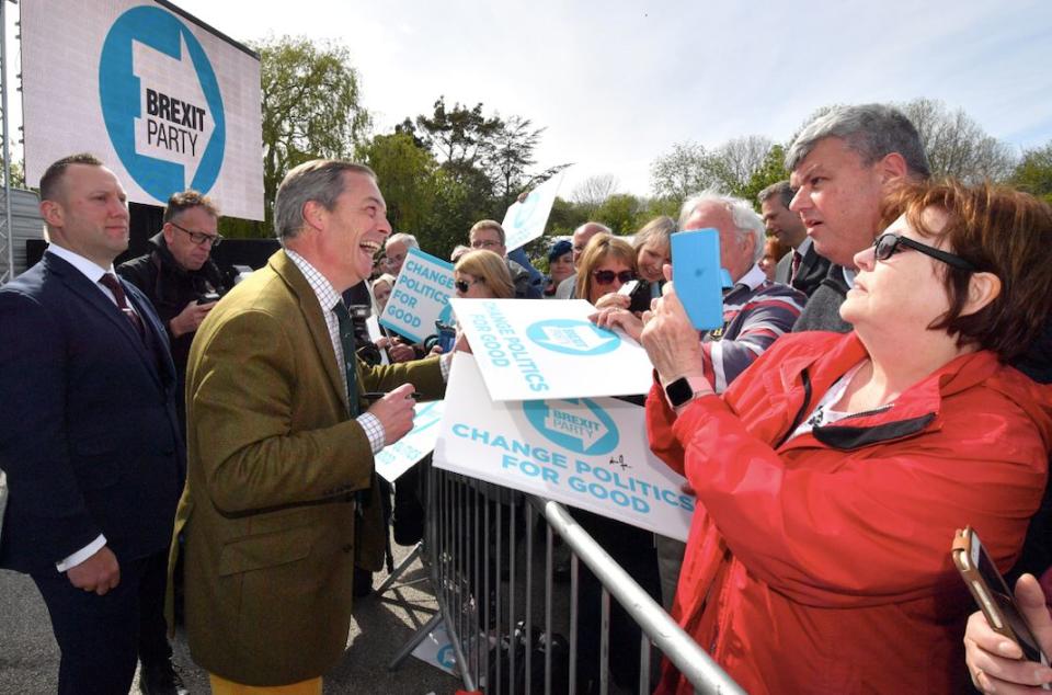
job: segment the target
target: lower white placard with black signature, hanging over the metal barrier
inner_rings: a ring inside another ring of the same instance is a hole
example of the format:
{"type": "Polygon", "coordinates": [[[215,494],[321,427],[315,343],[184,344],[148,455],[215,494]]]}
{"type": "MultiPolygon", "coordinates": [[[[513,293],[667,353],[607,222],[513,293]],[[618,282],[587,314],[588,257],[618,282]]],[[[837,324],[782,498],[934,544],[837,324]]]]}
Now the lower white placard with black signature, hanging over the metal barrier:
{"type": "Polygon", "coordinates": [[[613,398],[488,402],[456,353],[434,465],[686,540],[694,498],[647,444],[644,409],[613,398]]]}

